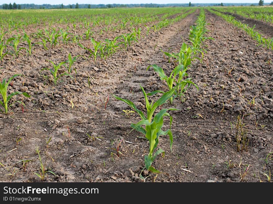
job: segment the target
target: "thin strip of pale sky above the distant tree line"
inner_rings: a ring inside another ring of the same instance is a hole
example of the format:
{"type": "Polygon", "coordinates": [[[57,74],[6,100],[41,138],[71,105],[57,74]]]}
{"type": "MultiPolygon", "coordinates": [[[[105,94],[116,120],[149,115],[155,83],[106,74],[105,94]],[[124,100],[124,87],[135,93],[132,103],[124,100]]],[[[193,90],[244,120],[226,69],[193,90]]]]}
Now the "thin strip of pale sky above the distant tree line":
{"type": "MultiPolygon", "coordinates": [[[[273,0],[264,0],[265,3],[270,3],[273,0]]],[[[165,4],[165,3],[258,3],[259,0],[0,0],[0,4],[3,3],[13,3],[16,4],[25,4],[25,3],[34,3],[34,4],[137,4],[137,3],[157,3],[157,4],[165,4]]]]}

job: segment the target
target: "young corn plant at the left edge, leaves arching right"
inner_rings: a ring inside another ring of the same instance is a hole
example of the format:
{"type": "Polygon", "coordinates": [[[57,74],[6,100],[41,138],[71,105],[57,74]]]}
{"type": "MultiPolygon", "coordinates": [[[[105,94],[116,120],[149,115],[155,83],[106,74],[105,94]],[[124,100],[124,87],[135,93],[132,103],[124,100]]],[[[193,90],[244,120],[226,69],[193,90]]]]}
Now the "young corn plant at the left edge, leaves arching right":
{"type": "Polygon", "coordinates": [[[6,79],[3,79],[2,83],[0,83],[0,93],[3,98],[3,101],[0,101],[0,105],[5,109],[6,115],[8,113],[8,102],[11,100],[13,96],[17,94],[23,94],[25,97],[30,97],[29,94],[27,94],[26,92],[20,92],[20,91],[13,92],[7,96],[7,87],[10,84],[11,80],[14,79],[16,76],[24,76],[24,75],[16,74],[16,75],[13,75],[11,78],[9,78],[7,82],[6,82],[6,79]]]}

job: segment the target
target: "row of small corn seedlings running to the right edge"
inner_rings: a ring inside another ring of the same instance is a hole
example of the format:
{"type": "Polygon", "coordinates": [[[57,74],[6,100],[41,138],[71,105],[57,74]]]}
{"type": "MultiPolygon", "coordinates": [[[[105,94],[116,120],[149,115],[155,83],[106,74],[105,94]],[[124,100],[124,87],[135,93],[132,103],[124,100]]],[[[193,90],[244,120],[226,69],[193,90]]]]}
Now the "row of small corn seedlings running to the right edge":
{"type": "Polygon", "coordinates": [[[261,34],[259,34],[257,31],[254,30],[255,26],[253,26],[251,28],[247,24],[244,24],[244,23],[241,23],[238,20],[235,20],[235,17],[231,16],[231,15],[225,15],[225,14],[223,14],[221,12],[214,11],[212,9],[208,9],[208,11],[210,11],[211,13],[216,14],[217,16],[222,17],[224,20],[226,20],[229,23],[232,23],[236,27],[238,27],[240,29],[243,29],[244,31],[246,31],[246,33],[249,36],[251,36],[252,39],[256,40],[259,45],[262,45],[267,49],[273,50],[273,38],[267,39],[267,38],[262,37],[261,34]]]}

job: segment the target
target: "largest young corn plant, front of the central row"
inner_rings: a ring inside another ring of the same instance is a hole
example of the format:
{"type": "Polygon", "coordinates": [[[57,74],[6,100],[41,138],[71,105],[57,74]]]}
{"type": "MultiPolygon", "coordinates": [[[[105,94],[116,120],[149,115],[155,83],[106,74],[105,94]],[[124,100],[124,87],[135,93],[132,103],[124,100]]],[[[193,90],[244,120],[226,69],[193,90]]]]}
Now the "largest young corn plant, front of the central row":
{"type": "MultiPolygon", "coordinates": [[[[157,114],[154,115],[154,111],[161,106],[163,103],[165,103],[170,97],[172,97],[173,93],[175,92],[176,88],[173,88],[172,90],[164,93],[156,102],[149,102],[147,94],[145,93],[143,87],[140,85],[140,88],[144,94],[145,97],[145,102],[146,102],[146,116],[145,114],[137,109],[136,105],[127,100],[123,99],[120,97],[117,97],[114,95],[114,97],[120,101],[123,101],[127,103],[130,107],[132,107],[141,117],[141,121],[139,121],[137,124],[132,124],[131,127],[133,129],[136,129],[137,131],[141,132],[142,134],[145,135],[145,137],[149,140],[149,145],[150,145],[150,150],[149,154],[145,155],[145,168],[147,170],[150,170],[151,172],[154,173],[159,173],[158,170],[156,170],[153,166],[152,163],[155,160],[156,156],[159,155],[160,153],[163,153],[164,151],[162,149],[158,149],[155,153],[155,149],[159,143],[159,136],[161,135],[169,135],[170,138],[170,149],[172,150],[172,143],[173,143],[173,136],[172,136],[172,131],[171,129],[167,129],[166,131],[162,130],[163,126],[163,117],[168,116],[170,118],[170,128],[172,124],[172,116],[170,116],[167,111],[172,111],[172,110],[178,110],[174,108],[168,108],[168,109],[161,109],[157,114]],[[154,117],[153,117],[154,116],[154,117]],[[141,127],[141,125],[145,125],[145,129],[141,127]]],[[[132,130],[133,130],[132,129],[132,130]]]]}

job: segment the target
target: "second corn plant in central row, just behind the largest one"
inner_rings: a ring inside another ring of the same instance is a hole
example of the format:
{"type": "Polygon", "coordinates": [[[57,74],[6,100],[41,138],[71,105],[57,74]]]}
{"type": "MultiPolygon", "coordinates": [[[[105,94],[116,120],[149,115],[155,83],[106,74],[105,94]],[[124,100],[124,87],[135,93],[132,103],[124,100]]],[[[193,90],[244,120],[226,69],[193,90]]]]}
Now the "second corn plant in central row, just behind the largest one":
{"type": "MultiPolygon", "coordinates": [[[[197,85],[195,83],[193,83],[190,78],[183,80],[183,76],[188,75],[186,73],[187,69],[184,69],[183,65],[178,65],[177,67],[175,67],[172,70],[169,77],[164,73],[164,70],[161,67],[159,67],[157,65],[151,65],[151,66],[148,66],[147,70],[150,67],[154,68],[154,71],[159,74],[161,80],[166,81],[169,91],[173,89],[173,85],[177,86],[177,90],[174,92],[174,96],[170,97],[170,104],[172,104],[173,98],[177,97],[179,94],[184,95],[183,93],[185,93],[186,89],[190,87],[190,84],[195,85],[195,87],[198,89],[197,85]],[[178,79],[175,79],[177,75],[179,75],[179,77],[178,77],[178,79]],[[175,82],[175,84],[174,84],[174,82],[175,82]],[[186,85],[188,85],[188,86],[186,87],[186,85]]],[[[156,90],[151,93],[148,93],[147,95],[152,96],[157,93],[164,93],[164,92],[160,91],[160,90],[156,90]]]]}

